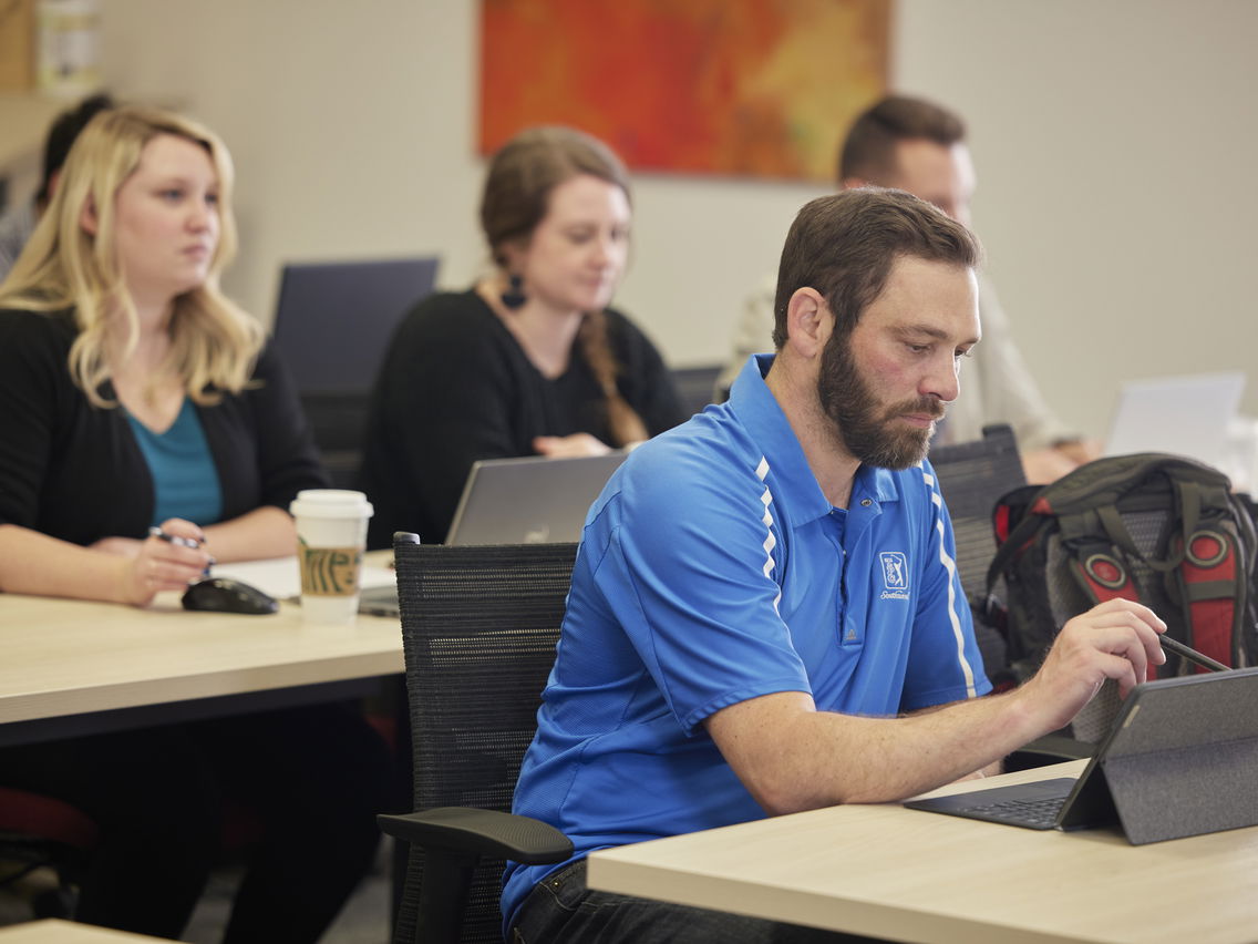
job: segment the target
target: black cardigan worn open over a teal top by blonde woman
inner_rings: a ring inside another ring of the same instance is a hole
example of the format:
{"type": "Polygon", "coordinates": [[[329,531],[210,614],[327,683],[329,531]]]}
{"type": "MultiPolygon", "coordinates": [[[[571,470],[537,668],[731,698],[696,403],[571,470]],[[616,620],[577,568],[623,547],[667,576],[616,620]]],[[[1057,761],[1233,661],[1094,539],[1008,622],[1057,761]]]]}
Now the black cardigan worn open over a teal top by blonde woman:
{"type": "MultiPolygon", "coordinates": [[[[123,410],[93,407],[70,379],[74,337],[69,312],[0,311],[0,524],[83,545],[143,537],[155,502],[148,464],[123,410]]],[[[287,511],[299,490],[327,487],[292,383],[269,349],[245,390],[196,413],[223,488],[223,521],[263,505],[287,511]]]]}

